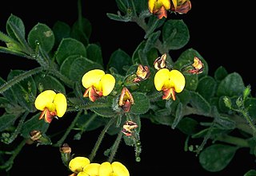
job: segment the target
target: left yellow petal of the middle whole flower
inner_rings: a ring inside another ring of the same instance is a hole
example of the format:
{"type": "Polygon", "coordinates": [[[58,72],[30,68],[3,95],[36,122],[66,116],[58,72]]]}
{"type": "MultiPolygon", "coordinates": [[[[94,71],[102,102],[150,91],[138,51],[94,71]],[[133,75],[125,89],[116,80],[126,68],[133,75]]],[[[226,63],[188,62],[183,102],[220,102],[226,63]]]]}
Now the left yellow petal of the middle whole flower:
{"type": "Polygon", "coordinates": [[[90,70],[82,76],[82,86],[84,88],[89,88],[94,84],[98,84],[98,82],[102,79],[102,76],[104,75],[105,72],[101,69],[90,70]]]}

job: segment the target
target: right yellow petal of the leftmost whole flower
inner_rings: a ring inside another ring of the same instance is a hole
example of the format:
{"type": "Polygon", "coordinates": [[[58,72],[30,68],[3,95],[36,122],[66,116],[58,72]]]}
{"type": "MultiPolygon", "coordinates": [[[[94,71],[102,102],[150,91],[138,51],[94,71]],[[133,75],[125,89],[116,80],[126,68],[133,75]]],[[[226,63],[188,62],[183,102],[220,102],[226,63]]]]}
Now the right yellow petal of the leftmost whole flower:
{"type": "Polygon", "coordinates": [[[58,117],[62,117],[67,108],[66,104],[66,96],[64,96],[62,93],[57,93],[54,98],[54,104],[56,107],[56,113],[58,117]]]}

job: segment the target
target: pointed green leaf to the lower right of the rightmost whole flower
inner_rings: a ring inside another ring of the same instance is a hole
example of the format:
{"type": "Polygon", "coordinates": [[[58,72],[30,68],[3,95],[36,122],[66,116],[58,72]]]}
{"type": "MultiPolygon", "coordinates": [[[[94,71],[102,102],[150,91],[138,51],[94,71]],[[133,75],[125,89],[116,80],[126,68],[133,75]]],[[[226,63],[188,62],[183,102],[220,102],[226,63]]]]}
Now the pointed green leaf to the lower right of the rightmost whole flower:
{"type": "Polygon", "coordinates": [[[190,91],[190,104],[193,108],[198,109],[204,114],[210,114],[210,104],[198,92],[190,91]]]}

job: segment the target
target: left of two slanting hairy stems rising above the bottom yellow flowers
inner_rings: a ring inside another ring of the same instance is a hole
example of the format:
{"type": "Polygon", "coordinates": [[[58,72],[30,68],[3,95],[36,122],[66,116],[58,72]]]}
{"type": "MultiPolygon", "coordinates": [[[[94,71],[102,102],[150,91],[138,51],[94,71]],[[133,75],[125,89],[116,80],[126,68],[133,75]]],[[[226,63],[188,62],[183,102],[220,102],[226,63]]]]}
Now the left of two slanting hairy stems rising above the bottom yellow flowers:
{"type": "Polygon", "coordinates": [[[115,120],[115,118],[112,117],[112,118],[110,119],[110,121],[109,121],[108,123],[106,123],[106,126],[103,128],[101,134],[98,136],[98,140],[97,140],[97,142],[95,143],[94,149],[92,150],[92,152],[91,152],[91,154],[90,154],[90,157],[89,157],[90,162],[93,161],[93,159],[94,159],[94,157],[95,157],[95,155],[96,155],[96,153],[97,153],[97,151],[98,151],[98,148],[99,148],[100,144],[102,143],[102,139],[104,138],[104,136],[105,136],[105,134],[106,134],[106,131],[107,131],[107,130],[109,129],[109,127],[114,123],[114,120],[115,120]]]}

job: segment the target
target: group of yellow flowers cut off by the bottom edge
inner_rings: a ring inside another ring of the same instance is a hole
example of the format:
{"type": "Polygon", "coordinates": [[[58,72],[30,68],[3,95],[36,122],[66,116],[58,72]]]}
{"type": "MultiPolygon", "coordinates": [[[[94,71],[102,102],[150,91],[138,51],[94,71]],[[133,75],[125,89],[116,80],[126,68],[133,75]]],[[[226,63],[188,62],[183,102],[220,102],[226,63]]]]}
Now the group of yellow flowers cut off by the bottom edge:
{"type": "Polygon", "coordinates": [[[90,162],[89,158],[78,156],[69,162],[69,168],[73,172],[70,176],[129,176],[129,170],[121,162],[90,162]]]}

